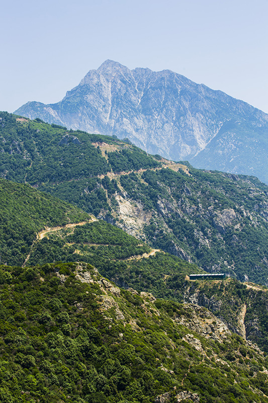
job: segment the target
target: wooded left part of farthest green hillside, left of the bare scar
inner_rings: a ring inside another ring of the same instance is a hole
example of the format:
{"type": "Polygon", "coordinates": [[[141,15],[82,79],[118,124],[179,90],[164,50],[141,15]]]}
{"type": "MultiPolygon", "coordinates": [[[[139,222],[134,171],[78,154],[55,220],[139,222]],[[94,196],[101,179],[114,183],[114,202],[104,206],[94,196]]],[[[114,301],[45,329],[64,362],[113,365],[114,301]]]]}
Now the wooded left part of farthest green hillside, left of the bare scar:
{"type": "Polygon", "coordinates": [[[99,175],[160,166],[144,151],[115,137],[67,130],[41,119],[16,121],[7,112],[0,112],[0,122],[0,175],[38,186],[96,216],[102,209],[111,210],[104,189],[109,196],[118,190],[115,181],[101,180],[99,175]],[[100,147],[92,145],[103,142],[119,151],[104,158],[100,147]]]}

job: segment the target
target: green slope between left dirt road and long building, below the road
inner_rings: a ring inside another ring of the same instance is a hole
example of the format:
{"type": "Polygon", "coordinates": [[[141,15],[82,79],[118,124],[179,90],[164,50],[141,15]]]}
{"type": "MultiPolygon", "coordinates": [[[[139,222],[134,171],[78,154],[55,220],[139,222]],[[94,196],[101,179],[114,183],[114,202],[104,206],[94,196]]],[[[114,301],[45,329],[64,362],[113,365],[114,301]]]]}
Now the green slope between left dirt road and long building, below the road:
{"type": "Polygon", "coordinates": [[[178,284],[184,281],[186,275],[202,271],[196,265],[168,253],[156,252],[142,258],[150,251],[148,245],[123,230],[98,221],[71,231],[48,233],[34,245],[28,263],[81,260],[93,264],[101,275],[121,286],[182,301],[178,284]]]}

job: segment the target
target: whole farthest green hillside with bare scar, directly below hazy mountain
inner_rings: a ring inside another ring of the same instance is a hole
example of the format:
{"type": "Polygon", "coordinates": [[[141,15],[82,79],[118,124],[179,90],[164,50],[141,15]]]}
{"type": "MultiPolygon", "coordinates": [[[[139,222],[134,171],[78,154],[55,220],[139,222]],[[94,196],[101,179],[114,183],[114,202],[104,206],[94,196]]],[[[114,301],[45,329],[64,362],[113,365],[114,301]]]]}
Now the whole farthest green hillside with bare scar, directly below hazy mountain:
{"type": "Polygon", "coordinates": [[[3,112],[0,172],[209,272],[267,284],[268,187],[3,112]]]}

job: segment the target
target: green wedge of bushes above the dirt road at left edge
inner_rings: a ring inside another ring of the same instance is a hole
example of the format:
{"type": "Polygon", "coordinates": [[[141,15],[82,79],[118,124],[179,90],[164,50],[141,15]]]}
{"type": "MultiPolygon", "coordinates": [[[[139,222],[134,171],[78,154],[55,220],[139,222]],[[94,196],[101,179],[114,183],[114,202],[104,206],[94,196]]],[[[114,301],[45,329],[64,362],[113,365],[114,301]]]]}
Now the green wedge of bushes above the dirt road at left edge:
{"type": "Polygon", "coordinates": [[[29,185],[0,178],[0,262],[23,264],[44,227],[90,220],[68,203],[29,185]]]}

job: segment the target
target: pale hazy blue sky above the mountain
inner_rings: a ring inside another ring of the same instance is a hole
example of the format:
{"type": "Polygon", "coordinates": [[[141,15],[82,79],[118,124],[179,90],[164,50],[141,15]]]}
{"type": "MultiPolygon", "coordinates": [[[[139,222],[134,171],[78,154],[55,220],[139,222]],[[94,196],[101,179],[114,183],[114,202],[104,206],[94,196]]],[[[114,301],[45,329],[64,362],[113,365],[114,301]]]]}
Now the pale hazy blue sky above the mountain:
{"type": "Polygon", "coordinates": [[[268,113],[268,0],[20,0],[1,8],[0,110],[54,103],[106,59],[170,69],[268,113]]]}

